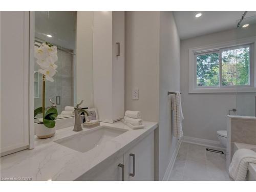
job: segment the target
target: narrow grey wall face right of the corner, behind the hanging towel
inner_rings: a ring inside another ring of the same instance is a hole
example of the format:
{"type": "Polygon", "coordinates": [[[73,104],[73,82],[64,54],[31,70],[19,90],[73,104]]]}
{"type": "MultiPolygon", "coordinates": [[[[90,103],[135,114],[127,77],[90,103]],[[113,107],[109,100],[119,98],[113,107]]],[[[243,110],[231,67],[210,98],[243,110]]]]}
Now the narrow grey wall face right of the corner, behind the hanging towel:
{"type": "Polygon", "coordinates": [[[159,179],[177,145],[173,137],[170,103],[167,91],[180,90],[180,38],[172,12],[160,12],[160,70],[159,70],[159,179]]]}

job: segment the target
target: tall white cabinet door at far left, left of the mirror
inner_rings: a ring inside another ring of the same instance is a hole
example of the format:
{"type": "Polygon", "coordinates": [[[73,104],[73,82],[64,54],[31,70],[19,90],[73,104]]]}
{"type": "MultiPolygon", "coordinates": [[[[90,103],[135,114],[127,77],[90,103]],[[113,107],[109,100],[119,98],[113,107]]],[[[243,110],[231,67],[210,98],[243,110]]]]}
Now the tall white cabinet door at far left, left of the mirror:
{"type": "Polygon", "coordinates": [[[1,11],[1,156],[29,146],[29,12],[1,11]]]}

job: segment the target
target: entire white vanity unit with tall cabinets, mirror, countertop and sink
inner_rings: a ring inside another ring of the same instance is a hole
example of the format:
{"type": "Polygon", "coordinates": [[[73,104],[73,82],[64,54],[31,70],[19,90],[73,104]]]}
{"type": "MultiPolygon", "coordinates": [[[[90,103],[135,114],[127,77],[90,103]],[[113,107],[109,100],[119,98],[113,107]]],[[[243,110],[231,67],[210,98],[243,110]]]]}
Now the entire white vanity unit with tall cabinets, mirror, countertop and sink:
{"type": "Polygon", "coordinates": [[[132,130],[115,122],[124,115],[123,11],[1,12],[2,37],[5,50],[12,53],[14,49],[17,54],[15,58],[3,54],[3,61],[15,65],[5,65],[1,71],[6,87],[3,98],[1,95],[5,111],[3,120],[1,117],[2,178],[154,180],[158,124],[143,121],[144,129],[132,130]],[[66,26],[61,23],[63,18],[66,26]],[[45,82],[43,93],[34,49],[45,42],[56,46],[58,73],[53,82],[45,82]],[[13,48],[13,44],[18,46],[13,48]],[[14,68],[19,75],[13,76],[14,68]],[[48,139],[34,135],[34,110],[42,106],[42,98],[46,108],[56,106],[63,118],[55,119],[56,134],[48,139]],[[64,118],[63,112],[81,100],[81,107],[97,108],[99,120],[106,123],[73,132],[74,114],[71,110],[64,118]],[[18,126],[13,126],[10,109],[19,114],[15,119],[18,126]]]}

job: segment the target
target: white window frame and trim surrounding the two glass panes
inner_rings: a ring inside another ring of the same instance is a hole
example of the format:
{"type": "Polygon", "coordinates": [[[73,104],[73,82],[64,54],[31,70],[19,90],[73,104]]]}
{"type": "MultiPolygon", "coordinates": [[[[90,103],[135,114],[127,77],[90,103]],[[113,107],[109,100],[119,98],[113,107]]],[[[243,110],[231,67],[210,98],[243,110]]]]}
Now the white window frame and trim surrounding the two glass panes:
{"type": "Polygon", "coordinates": [[[228,41],[221,44],[215,44],[210,46],[203,46],[197,48],[189,49],[189,82],[188,82],[188,93],[237,93],[237,92],[256,92],[256,79],[255,79],[255,60],[256,52],[254,49],[256,42],[256,37],[239,39],[236,41],[228,41]],[[243,47],[250,46],[250,84],[248,86],[222,86],[222,68],[221,68],[221,53],[225,50],[230,50],[232,48],[239,49],[243,47]],[[220,54],[220,80],[219,86],[217,87],[198,87],[197,86],[197,56],[210,54],[210,53],[219,53],[220,54]]]}

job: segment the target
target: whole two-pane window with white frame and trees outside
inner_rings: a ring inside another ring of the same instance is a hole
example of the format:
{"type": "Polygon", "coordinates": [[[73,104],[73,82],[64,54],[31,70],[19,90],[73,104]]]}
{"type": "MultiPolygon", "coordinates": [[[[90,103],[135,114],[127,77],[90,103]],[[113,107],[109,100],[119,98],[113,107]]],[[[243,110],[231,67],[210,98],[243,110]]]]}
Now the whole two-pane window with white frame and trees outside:
{"type": "Polygon", "coordinates": [[[189,50],[189,93],[255,91],[254,43],[216,47],[189,50]]]}

